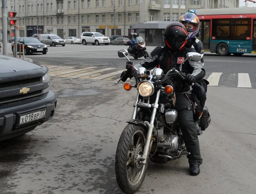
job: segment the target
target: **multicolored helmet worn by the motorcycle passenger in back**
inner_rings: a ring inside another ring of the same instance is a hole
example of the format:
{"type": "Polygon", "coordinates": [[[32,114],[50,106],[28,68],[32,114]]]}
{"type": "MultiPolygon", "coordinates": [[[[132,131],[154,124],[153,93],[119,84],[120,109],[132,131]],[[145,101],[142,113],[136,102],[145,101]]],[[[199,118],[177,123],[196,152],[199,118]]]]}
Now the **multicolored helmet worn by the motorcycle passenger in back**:
{"type": "Polygon", "coordinates": [[[186,26],[188,32],[188,39],[195,38],[199,32],[200,20],[196,14],[188,12],[180,17],[180,23],[186,26]]]}

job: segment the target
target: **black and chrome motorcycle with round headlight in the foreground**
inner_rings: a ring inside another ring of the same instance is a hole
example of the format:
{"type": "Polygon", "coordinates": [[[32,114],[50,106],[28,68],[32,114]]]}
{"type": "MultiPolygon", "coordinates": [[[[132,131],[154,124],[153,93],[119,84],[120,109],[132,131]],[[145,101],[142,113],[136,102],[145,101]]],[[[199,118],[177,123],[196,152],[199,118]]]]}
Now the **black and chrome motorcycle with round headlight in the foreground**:
{"type": "MultiPolygon", "coordinates": [[[[125,49],[118,51],[119,58],[128,59],[127,55],[125,49]]],[[[131,120],[127,121],[128,125],[122,131],[116,148],[116,180],[126,194],[136,192],[142,185],[148,159],[155,163],[166,163],[190,154],[186,151],[183,134],[177,123],[175,82],[172,79],[185,79],[186,75],[181,70],[188,59],[200,61],[201,55],[187,53],[180,70],[170,69],[166,75],[160,68],[147,70],[140,67],[136,70],[129,59],[126,63],[126,69],[132,70],[136,84],[126,82],[124,89],[130,91],[134,87],[138,90],[131,120]]],[[[204,107],[205,119],[209,118],[208,114],[207,107],[204,107]]],[[[208,127],[209,119],[205,125],[202,130],[208,127]]]]}

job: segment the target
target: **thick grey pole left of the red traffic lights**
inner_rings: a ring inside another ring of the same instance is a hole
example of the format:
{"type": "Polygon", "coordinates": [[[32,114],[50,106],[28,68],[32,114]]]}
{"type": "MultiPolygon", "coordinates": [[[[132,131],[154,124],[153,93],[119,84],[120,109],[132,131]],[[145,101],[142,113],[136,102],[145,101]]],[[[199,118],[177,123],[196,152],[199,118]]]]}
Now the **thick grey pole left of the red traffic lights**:
{"type": "Polygon", "coordinates": [[[6,0],[2,0],[2,24],[3,24],[3,55],[7,55],[7,8],[6,8],[6,0]]]}

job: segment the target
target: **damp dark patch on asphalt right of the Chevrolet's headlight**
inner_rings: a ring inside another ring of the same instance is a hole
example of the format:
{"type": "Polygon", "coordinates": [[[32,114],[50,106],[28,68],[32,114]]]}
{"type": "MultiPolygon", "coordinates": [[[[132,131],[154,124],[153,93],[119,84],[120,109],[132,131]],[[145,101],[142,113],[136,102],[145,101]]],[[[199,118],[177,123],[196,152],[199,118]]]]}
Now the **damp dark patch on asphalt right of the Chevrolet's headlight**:
{"type": "Polygon", "coordinates": [[[79,96],[92,96],[96,94],[100,94],[101,92],[95,90],[95,89],[83,89],[83,90],[74,90],[74,89],[66,89],[61,90],[61,94],[58,95],[60,98],[64,97],[79,97],[79,96]]]}

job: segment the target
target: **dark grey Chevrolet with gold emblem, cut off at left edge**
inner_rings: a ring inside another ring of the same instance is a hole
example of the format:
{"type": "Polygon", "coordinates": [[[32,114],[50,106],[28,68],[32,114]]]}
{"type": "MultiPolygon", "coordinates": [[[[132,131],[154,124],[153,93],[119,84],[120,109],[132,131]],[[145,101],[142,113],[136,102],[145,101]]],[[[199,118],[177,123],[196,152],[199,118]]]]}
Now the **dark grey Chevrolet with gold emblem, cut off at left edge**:
{"type": "Polygon", "coordinates": [[[0,55],[0,140],[20,136],[52,119],[57,96],[47,67],[0,55]]]}

